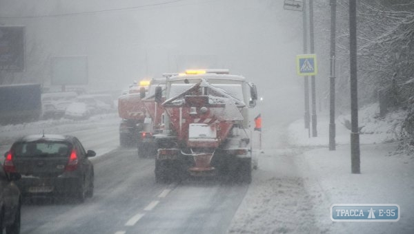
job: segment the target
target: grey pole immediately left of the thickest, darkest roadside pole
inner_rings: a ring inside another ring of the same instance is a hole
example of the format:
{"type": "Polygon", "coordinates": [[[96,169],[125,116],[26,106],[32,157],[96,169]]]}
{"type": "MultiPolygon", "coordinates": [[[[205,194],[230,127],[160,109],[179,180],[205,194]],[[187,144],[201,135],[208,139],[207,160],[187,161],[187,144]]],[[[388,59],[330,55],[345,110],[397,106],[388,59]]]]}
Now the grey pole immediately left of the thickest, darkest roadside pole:
{"type": "Polygon", "coordinates": [[[335,30],[336,0],[331,0],[331,76],[329,105],[329,150],[335,150],[335,30]]]}

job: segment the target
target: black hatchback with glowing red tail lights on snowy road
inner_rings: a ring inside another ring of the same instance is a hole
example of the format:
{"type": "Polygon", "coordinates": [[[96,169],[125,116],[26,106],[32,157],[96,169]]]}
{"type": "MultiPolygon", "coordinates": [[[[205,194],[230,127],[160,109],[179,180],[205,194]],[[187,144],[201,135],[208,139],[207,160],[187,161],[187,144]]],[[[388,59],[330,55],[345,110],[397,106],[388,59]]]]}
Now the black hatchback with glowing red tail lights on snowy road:
{"type": "Polygon", "coordinates": [[[18,173],[16,181],[23,197],[59,196],[83,202],[93,195],[94,171],[75,136],[31,135],[16,140],[6,152],[3,167],[18,173]]]}

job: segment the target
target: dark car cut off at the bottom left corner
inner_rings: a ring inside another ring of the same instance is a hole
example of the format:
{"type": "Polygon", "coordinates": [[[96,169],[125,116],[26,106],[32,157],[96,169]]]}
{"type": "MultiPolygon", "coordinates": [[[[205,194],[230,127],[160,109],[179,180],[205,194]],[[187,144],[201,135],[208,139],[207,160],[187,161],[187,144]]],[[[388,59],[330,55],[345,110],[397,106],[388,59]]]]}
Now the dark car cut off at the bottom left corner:
{"type": "Polygon", "coordinates": [[[20,233],[21,196],[14,180],[19,180],[16,173],[6,173],[0,167],[0,230],[6,228],[6,234],[20,233]]]}

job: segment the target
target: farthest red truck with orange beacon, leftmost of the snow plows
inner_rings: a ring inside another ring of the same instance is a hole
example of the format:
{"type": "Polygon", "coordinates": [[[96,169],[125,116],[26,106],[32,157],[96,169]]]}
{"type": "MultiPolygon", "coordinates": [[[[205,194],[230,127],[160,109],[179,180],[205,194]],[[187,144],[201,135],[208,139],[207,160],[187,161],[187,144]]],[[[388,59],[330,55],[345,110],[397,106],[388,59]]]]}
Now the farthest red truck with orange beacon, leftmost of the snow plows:
{"type": "Polygon", "coordinates": [[[118,98],[118,115],[121,117],[119,124],[119,145],[130,147],[137,144],[139,132],[144,128],[145,107],[141,99],[148,92],[150,81],[140,81],[131,85],[128,94],[118,98]]]}

